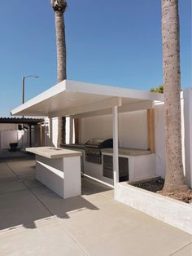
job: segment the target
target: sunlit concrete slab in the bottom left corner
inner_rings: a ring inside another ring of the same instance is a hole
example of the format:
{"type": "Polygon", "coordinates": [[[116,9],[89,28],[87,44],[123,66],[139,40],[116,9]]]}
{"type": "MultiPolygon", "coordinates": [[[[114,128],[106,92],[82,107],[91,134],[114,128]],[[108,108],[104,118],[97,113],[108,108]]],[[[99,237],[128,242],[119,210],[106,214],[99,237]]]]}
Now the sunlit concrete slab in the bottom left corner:
{"type": "Polygon", "coordinates": [[[0,255],[87,255],[54,219],[0,234],[0,255]]]}

